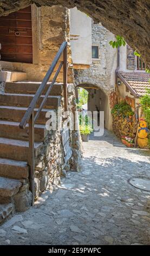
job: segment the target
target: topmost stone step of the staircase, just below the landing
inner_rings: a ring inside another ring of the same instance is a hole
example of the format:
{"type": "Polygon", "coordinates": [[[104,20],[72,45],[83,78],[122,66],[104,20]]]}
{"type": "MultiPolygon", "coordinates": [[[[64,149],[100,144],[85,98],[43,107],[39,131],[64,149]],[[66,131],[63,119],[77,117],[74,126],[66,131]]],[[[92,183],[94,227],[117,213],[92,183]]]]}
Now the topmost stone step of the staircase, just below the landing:
{"type": "MultiPolygon", "coordinates": [[[[30,81],[19,81],[19,82],[8,82],[5,85],[5,93],[21,93],[21,94],[35,94],[37,92],[38,87],[41,82],[30,82],[30,81]]],[[[43,91],[43,95],[47,92],[50,82],[47,83],[43,91]]],[[[53,96],[62,96],[63,92],[63,84],[55,83],[53,88],[51,89],[50,95],[53,96]]]]}

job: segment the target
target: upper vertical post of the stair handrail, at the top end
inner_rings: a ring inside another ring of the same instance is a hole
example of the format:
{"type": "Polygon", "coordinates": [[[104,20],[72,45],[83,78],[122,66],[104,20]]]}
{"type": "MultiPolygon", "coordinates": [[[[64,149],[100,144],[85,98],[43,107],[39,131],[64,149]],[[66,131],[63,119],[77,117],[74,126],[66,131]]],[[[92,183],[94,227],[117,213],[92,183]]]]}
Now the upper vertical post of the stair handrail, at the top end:
{"type": "Polygon", "coordinates": [[[67,45],[63,50],[63,95],[64,95],[64,111],[68,111],[68,95],[67,95],[67,45]]]}

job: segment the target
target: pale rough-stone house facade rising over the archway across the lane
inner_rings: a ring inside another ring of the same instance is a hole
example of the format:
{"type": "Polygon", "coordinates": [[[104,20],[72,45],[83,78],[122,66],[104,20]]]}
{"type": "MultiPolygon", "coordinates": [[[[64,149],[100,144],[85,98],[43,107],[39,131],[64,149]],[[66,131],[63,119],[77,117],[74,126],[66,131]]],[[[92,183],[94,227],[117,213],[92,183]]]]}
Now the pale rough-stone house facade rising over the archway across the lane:
{"type": "Polygon", "coordinates": [[[109,94],[114,90],[117,51],[109,45],[114,35],[100,23],[92,22],[92,46],[98,48],[98,58],[92,59],[89,69],[75,70],[75,84],[88,89],[88,110],[98,108],[105,113],[105,126],[112,129],[112,115],[109,107],[109,94]],[[95,89],[96,88],[96,89],[95,89]],[[96,103],[95,103],[96,102],[96,103]]]}

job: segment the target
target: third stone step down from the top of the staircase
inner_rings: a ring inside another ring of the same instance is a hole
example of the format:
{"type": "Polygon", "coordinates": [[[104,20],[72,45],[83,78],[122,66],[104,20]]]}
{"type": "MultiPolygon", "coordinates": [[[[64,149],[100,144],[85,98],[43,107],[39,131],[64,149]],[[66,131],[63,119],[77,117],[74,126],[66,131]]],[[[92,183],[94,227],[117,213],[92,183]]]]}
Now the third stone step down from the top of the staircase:
{"type": "MultiPolygon", "coordinates": [[[[45,114],[51,109],[43,108],[40,112],[40,115],[36,121],[36,124],[45,124],[48,118],[45,118],[45,114]]],[[[15,107],[15,106],[0,106],[0,119],[21,122],[27,107],[15,107]]],[[[38,111],[38,108],[35,108],[34,114],[38,111]]]]}

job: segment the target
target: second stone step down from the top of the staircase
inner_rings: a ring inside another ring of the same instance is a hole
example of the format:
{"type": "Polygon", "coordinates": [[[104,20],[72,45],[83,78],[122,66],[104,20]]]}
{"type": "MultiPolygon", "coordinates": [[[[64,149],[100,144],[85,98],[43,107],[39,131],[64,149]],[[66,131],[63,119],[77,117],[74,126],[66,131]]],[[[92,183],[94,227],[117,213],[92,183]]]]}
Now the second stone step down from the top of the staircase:
{"type": "MultiPolygon", "coordinates": [[[[34,94],[9,94],[0,95],[0,103],[4,106],[18,106],[29,107],[29,104],[34,97],[34,94]]],[[[44,95],[42,95],[36,105],[38,108],[42,102],[44,95]]],[[[61,105],[61,96],[48,96],[44,108],[57,109],[61,105]]]]}

